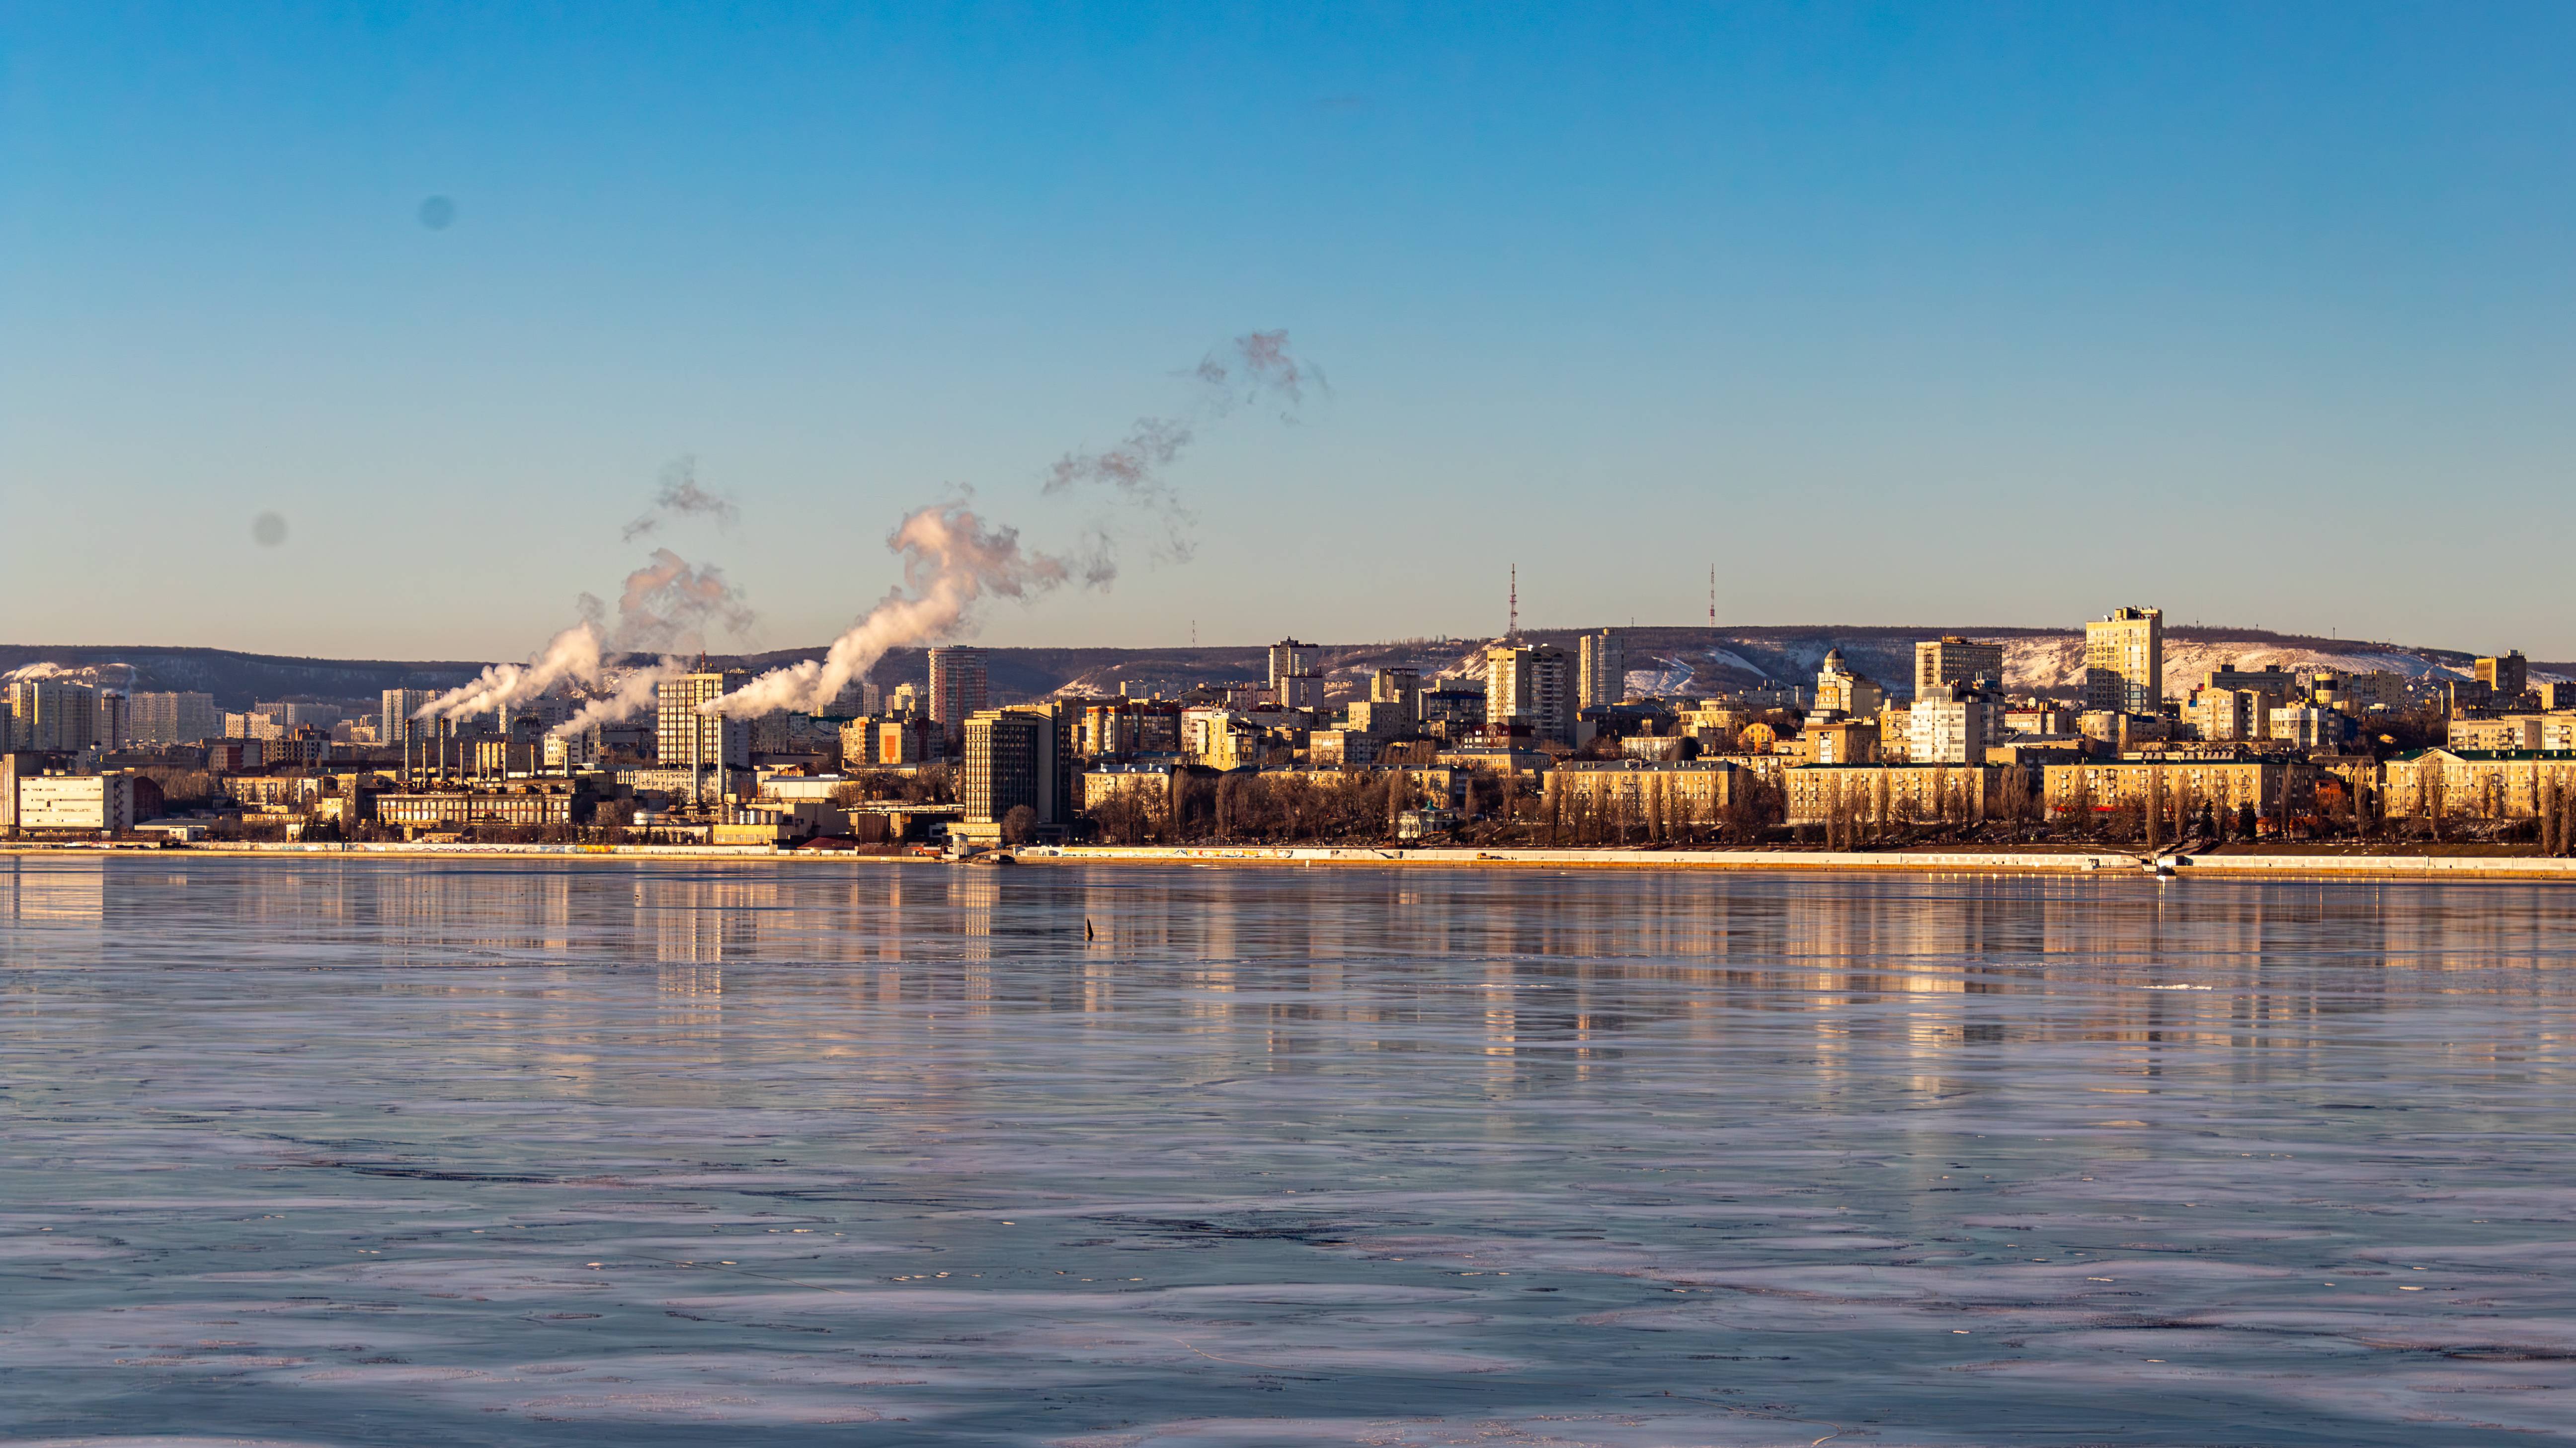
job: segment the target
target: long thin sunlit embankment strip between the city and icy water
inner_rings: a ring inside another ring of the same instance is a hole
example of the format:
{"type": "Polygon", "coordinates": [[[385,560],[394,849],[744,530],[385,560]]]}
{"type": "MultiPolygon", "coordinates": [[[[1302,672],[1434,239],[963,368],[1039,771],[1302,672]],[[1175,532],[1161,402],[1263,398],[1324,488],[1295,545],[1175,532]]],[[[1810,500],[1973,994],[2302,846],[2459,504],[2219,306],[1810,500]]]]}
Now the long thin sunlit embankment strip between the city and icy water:
{"type": "MultiPolygon", "coordinates": [[[[520,861],[742,861],[935,866],[930,855],[858,855],[845,850],[775,850],[768,845],[304,845],[227,843],[180,848],[134,845],[0,845],[0,855],[118,855],[162,863],[214,858],[520,858],[520,861]]],[[[1473,850],[1378,845],[1033,845],[1023,866],[1185,863],[1185,866],[1437,866],[1437,868],[1628,868],[1628,871],[1850,871],[1850,873],[1991,873],[1991,876],[2138,876],[2148,855],[2123,850],[1473,850]]],[[[2182,855],[2172,879],[2501,879],[2576,881],[2576,858],[2537,855],[2182,855]]],[[[989,868],[989,866],[987,866],[989,868]]]]}

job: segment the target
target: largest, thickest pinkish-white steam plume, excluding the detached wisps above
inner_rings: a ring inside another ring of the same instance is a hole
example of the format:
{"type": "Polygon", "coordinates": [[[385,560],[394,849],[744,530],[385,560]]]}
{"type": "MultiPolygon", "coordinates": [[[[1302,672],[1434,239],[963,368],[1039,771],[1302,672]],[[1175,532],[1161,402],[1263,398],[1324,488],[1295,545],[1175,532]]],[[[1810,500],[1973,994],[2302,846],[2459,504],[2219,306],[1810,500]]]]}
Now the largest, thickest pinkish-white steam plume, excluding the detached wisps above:
{"type": "MultiPolygon", "coordinates": [[[[963,502],[922,508],[886,538],[904,557],[904,585],[850,626],[824,657],[770,670],[721,696],[714,709],[734,716],[775,709],[822,711],[886,649],[953,631],[984,595],[1036,598],[1077,580],[1074,564],[1020,549],[1018,528],[987,526],[963,502]]],[[[1084,569],[1082,582],[1105,582],[1084,569]]]]}

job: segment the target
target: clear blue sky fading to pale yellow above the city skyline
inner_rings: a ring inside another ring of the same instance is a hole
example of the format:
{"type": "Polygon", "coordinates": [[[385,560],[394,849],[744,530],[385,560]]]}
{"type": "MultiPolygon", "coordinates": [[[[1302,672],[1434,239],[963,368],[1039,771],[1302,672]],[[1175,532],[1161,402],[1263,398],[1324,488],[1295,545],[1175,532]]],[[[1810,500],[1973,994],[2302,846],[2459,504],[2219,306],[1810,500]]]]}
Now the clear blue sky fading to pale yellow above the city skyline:
{"type": "Polygon", "coordinates": [[[2566,660],[2571,54],[2563,3],[0,3],[0,642],[518,657],[690,456],[739,523],[654,541],[819,644],[909,508],[1072,544],[1046,464],[1283,327],[1332,394],[1200,430],[1195,557],[987,642],[1492,634],[1517,562],[1535,626],[1716,567],[1734,624],[2566,660]]]}

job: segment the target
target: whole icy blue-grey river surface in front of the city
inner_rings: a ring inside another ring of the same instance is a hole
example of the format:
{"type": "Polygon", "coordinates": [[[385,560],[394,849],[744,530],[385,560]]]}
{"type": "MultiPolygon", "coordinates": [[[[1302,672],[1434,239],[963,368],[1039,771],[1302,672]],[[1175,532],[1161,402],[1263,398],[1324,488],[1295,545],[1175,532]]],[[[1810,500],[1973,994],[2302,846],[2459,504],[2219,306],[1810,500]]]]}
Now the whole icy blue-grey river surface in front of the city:
{"type": "Polygon", "coordinates": [[[2568,1438],[2571,899],[0,858],[0,1435],[2568,1438]]]}

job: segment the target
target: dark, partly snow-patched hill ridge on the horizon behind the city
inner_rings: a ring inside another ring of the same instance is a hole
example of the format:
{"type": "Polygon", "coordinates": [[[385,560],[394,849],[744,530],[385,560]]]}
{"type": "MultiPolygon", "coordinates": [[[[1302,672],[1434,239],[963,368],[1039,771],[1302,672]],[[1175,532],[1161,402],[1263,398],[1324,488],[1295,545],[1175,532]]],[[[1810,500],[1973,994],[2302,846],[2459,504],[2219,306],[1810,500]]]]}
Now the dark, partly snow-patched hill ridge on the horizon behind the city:
{"type": "MultiPolygon", "coordinates": [[[[1574,629],[1528,629],[1522,636],[1574,649],[1574,629]]],[[[1765,683],[1814,683],[1826,649],[1842,649],[1850,665],[1896,693],[1914,678],[1914,642],[1965,634],[2004,644],[2004,672],[2012,688],[2069,691],[2084,680],[2081,629],[1960,629],[1886,624],[1788,624],[1620,629],[1631,688],[1646,693],[1718,693],[1765,683]]],[[[1316,644],[1327,693],[1347,698],[1365,691],[1370,670],[1412,665],[1425,678],[1484,675],[1486,639],[1404,639],[1391,644],[1316,644]]],[[[778,649],[768,654],[716,654],[750,670],[822,657],[822,649],[778,649]]],[[[2396,670],[2406,675],[2465,675],[2473,654],[2463,649],[2421,649],[2409,644],[2316,639],[2269,634],[2262,629],[2172,626],[2164,634],[2166,693],[2182,696],[2223,660],[2239,667],[2334,667],[2396,670]]],[[[474,678],[484,662],[407,662],[407,660],[299,660],[281,654],[237,654],[232,649],[162,647],[44,647],[0,644],[0,672],[26,665],[54,665],[93,680],[134,688],[185,688],[211,693],[219,709],[247,709],[263,698],[312,698],[366,706],[386,688],[453,688],[474,678]]],[[[992,693],[999,701],[1043,698],[1051,693],[1118,693],[1123,680],[1151,685],[1190,685],[1262,678],[1265,647],[1203,649],[987,649],[992,693]]],[[[2543,678],[2576,678],[2576,662],[2532,662],[2543,678]]],[[[922,683],[927,654],[896,649],[876,667],[886,688],[922,683]]]]}

